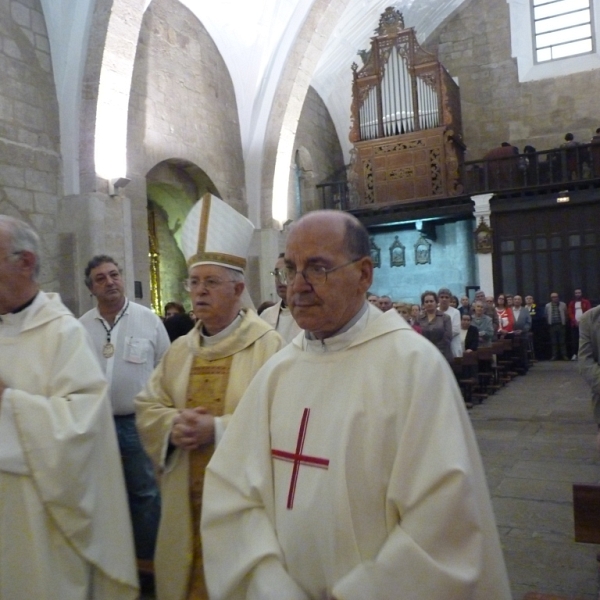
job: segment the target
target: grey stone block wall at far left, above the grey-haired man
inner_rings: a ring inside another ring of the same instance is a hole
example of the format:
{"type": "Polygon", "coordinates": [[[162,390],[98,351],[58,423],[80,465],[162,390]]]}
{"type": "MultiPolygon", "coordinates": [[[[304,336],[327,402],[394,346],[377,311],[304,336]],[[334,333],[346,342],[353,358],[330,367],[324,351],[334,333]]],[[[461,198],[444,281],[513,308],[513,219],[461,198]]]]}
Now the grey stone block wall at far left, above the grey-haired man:
{"type": "Polygon", "coordinates": [[[0,214],[23,219],[40,234],[40,283],[56,291],[59,265],[72,248],[58,233],[58,105],[38,0],[0,3],[0,73],[0,214]]]}

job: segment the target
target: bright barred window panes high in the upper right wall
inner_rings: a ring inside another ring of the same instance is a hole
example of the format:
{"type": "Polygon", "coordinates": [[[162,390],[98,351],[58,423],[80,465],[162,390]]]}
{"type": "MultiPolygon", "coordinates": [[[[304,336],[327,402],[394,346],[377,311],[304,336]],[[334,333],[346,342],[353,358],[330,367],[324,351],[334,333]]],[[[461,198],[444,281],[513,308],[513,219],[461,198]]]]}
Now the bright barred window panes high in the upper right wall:
{"type": "Polygon", "coordinates": [[[532,0],[538,63],[593,50],[590,0],[532,0]]]}

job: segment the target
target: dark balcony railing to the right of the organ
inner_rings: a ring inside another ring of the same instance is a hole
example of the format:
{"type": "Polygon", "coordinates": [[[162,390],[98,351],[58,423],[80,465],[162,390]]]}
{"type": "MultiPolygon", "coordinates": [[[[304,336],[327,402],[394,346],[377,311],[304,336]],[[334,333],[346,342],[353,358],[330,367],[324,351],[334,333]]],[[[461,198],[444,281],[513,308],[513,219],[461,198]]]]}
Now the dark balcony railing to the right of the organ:
{"type": "Polygon", "coordinates": [[[600,179],[600,144],[467,161],[463,165],[462,179],[466,194],[600,179]]]}

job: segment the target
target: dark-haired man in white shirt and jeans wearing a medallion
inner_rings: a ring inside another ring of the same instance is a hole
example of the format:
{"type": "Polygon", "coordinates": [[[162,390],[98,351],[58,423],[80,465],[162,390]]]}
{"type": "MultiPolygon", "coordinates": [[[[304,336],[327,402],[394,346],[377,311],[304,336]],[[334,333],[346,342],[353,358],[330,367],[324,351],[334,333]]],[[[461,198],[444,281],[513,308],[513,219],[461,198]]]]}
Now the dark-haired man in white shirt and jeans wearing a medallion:
{"type": "Polygon", "coordinates": [[[149,561],[154,557],[160,494],[135,426],[133,401],[169,347],[169,336],[150,309],[125,296],[121,269],[112,257],[94,256],[85,269],[85,283],[98,304],[80,321],[110,386],[136,556],[149,561]]]}

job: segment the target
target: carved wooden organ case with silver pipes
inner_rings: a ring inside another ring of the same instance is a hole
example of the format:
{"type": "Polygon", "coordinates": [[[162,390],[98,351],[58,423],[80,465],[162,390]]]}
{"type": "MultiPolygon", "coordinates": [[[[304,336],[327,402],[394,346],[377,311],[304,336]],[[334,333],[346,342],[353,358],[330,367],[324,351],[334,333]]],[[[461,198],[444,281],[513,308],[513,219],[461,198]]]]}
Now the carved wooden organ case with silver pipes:
{"type": "Polygon", "coordinates": [[[360,205],[405,203],[462,192],[459,89],[423,50],[402,14],[387,8],[352,65],[354,144],[350,180],[360,205]]]}

